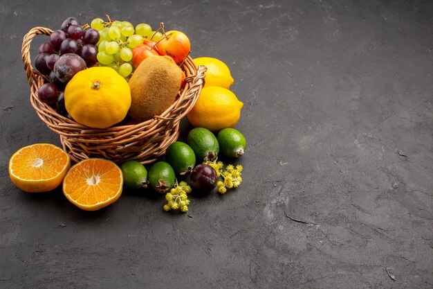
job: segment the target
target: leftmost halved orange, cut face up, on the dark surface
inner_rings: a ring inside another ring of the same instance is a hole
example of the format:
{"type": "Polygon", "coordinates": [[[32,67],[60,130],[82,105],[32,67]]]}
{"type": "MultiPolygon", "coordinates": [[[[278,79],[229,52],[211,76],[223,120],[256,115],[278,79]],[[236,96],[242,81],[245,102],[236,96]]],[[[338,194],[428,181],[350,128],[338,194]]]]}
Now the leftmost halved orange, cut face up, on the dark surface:
{"type": "Polygon", "coordinates": [[[71,159],[50,143],[20,148],[9,159],[9,176],[19,189],[28,193],[52,191],[71,167],[71,159]]]}

